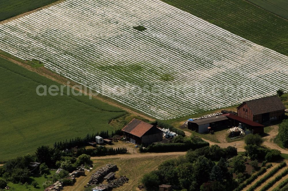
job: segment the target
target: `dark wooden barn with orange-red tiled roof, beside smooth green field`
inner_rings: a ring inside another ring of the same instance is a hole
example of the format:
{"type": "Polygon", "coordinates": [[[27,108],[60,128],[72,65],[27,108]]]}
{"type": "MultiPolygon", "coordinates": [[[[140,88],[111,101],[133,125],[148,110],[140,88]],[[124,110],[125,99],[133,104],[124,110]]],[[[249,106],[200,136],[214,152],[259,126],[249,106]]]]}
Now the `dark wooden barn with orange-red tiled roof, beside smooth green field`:
{"type": "Polygon", "coordinates": [[[124,137],[131,143],[148,145],[162,141],[163,132],[155,125],[151,125],[144,121],[133,119],[124,128],[124,137]]]}

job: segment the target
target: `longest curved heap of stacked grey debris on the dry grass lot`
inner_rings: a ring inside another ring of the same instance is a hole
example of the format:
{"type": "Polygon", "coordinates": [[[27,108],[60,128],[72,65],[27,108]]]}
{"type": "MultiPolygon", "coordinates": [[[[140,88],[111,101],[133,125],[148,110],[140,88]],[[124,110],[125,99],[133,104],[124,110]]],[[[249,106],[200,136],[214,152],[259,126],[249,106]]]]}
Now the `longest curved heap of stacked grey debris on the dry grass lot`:
{"type": "Polygon", "coordinates": [[[115,171],[117,169],[117,165],[115,164],[107,164],[101,167],[98,171],[91,175],[89,182],[87,183],[88,186],[96,185],[101,181],[107,174],[111,171],[115,171]]]}

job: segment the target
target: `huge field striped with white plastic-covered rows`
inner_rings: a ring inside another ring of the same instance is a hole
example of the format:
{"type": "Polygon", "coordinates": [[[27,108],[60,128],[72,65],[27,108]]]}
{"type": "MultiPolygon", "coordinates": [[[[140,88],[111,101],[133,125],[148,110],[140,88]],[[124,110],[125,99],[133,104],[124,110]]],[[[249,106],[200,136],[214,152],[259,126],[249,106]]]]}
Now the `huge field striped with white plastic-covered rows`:
{"type": "Polygon", "coordinates": [[[0,25],[0,49],[159,119],[288,90],[287,56],[158,0],[67,0],[0,25]]]}

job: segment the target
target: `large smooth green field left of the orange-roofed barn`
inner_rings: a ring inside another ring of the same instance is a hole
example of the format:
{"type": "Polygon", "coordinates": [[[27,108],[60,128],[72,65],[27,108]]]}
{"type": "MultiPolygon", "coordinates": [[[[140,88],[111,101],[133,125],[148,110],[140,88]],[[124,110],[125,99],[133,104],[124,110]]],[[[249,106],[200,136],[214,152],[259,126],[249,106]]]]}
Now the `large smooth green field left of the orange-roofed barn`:
{"type": "Polygon", "coordinates": [[[34,153],[40,145],[115,130],[108,122],[126,114],[88,96],[39,96],[38,85],[60,84],[0,58],[0,161],[34,153]]]}

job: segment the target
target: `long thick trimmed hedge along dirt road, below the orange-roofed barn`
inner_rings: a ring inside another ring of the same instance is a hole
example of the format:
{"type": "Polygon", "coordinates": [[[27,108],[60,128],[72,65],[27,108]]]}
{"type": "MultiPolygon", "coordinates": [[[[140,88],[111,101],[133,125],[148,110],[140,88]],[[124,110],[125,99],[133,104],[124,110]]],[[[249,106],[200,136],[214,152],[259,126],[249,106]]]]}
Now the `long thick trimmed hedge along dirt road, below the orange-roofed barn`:
{"type": "Polygon", "coordinates": [[[147,149],[140,148],[139,150],[140,152],[188,151],[189,149],[195,150],[206,146],[209,146],[209,143],[158,143],[149,145],[147,149]]]}

